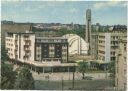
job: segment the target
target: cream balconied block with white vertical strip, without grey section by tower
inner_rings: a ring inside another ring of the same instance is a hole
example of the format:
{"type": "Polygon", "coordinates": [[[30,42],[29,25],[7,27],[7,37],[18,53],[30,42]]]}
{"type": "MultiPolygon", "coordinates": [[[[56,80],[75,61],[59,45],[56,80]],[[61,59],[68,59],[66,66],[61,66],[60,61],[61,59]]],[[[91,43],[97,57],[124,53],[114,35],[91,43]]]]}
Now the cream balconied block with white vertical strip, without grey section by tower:
{"type": "Polygon", "coordinates": [[[127,38],[126,28],[114,26],[111,31],[98,33],[98,59],[103,61],[115,61],[116,49],[119,47],[119,39],[127,38]]]}

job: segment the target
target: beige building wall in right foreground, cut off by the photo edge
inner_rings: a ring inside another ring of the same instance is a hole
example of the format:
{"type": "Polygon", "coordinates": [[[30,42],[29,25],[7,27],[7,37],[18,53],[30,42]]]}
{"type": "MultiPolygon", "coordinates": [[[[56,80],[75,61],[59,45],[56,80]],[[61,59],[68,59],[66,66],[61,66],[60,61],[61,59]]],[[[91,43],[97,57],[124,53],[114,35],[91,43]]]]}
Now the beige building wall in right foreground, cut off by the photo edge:
{"type": "Polygon", "coordinates": [[[115,62],[115,87],[117,91],[125,91],[127,87],[127,40],[122,38],[119,43],[119,48],[116,51],[115,62]]]}

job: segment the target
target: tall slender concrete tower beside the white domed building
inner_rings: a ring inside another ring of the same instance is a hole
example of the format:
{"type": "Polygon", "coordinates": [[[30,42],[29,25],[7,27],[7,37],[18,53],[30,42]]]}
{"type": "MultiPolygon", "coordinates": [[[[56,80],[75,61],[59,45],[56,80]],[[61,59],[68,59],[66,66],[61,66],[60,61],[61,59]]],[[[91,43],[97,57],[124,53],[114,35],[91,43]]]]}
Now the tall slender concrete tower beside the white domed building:
{"type": "Polygon", "coordinates": [[[91,9],[86,11],[85,40],[88,43],[88,54],[91,54],[91,9]]]}

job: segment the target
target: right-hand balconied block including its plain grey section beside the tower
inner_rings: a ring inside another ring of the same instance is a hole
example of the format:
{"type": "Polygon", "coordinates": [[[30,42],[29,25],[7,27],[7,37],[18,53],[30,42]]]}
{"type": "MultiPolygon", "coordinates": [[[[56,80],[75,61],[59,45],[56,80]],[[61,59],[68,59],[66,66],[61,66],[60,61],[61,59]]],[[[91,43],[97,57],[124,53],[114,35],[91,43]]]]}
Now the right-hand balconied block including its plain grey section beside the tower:
{"type": "Polygon", "coordinates": [[[116,49],[119,47],[119,39],[127,38],[126,26],[114,26],[108,32],[92,33],[92,55],[98,60],[116,60],[116,49]]]}

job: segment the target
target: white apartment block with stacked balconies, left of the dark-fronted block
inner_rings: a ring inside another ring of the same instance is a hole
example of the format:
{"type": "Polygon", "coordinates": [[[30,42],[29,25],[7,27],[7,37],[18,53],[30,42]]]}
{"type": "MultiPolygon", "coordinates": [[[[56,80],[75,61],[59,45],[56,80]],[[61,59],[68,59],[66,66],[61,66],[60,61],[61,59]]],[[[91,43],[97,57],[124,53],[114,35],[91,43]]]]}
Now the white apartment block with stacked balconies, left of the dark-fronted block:
{"type": "Polygon", "coordinates": [[[27,61],[34,60],[34,33],[7,33],[6,49],[11,59],[27,61]]]}

